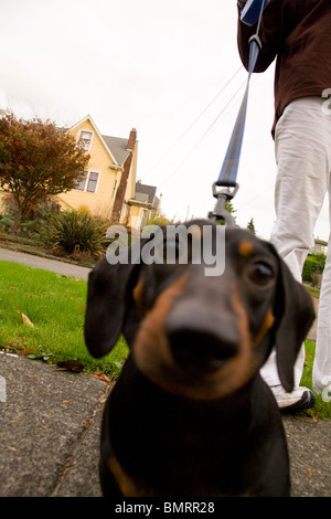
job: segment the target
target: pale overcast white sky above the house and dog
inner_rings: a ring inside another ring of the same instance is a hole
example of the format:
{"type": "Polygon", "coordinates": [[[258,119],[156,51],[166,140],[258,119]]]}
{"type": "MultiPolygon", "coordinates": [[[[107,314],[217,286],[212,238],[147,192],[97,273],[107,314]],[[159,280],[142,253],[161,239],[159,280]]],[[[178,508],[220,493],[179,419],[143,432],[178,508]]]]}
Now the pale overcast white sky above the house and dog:
{"type": "MultiPolygon", "coordinates": [[[[0,108],[58,125],[87,114],[99,131],[137,128],[137,178],[168,218],[205,218],[247,73],[236,0],[0,0],[0,108]]],[[[234,200],[269,239],[276,166],[274,65],[250,83],[234,200]]],[[[316,237],[328,240],[327,205],[316,237]]]]}

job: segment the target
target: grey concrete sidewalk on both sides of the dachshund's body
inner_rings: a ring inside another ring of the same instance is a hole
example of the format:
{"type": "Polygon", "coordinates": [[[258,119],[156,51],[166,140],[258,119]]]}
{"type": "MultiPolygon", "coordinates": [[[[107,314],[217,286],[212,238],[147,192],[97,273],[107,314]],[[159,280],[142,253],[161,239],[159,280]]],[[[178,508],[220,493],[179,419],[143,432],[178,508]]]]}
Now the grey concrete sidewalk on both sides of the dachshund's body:
{"type": "MultiPolygon", "coordinates": [[[[0,354],[0,496],[98,497],[99,426],[108,384],[0,354]]],[[[284,419],[292,495],[331,495],[331,422],[284,419]]]]}

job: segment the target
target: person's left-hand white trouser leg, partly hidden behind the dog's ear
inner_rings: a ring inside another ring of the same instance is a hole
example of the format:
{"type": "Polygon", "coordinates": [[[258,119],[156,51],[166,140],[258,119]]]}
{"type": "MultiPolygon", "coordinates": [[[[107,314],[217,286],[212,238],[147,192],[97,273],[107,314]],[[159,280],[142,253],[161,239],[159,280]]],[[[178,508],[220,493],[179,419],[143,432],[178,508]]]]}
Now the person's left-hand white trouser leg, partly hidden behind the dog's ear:
{"type": "MultiPolygon", "coordinates": [[[[305,260],[313,245],[316,221],[330,184],[331,116],[323,113],[323,100],[303,97],[290,103],[276,127],[277,219],[270,241],[297,280],[301,280],[305,260]]],[[[330,307],[330,296],[325,305],[330,307]]],[[[300,383],[303,361],[302,345],[295,366],[296,385],[300,383]]],[[[269,385],[280,384],[275,351],[261,375],[269,385]]]]}

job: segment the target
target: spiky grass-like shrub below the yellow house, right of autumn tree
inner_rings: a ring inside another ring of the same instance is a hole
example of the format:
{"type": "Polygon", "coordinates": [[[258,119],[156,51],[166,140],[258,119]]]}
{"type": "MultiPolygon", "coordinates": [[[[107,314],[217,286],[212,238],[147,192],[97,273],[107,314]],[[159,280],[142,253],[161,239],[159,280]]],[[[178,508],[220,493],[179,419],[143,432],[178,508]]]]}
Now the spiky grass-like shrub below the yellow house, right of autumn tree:
{"type": "Polygon", "coordinates": [[[98,257],[105,252],[104,220],[81,211],[64,211],[49,219],[43,240],[54,250],[66,254],[89,253],[98,257]]]}

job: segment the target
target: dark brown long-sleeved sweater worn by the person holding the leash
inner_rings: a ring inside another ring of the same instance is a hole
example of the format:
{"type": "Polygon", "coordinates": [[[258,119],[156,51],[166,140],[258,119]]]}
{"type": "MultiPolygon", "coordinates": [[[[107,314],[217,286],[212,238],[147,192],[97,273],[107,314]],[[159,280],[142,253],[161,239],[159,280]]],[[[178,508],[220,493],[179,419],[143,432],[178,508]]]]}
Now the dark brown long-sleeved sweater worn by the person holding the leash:
{"type": "MultiPolygon", "coordinates": [[[[246,68],[248,39],[255,31],[256,25],[238,20],[238,50],[246,68]]],[[[259,38],[263,49],[255,72],[264,72],[277,56],[274,136],[286,105],[331,88],[331,0],[269,0],[259,38]]]]}

